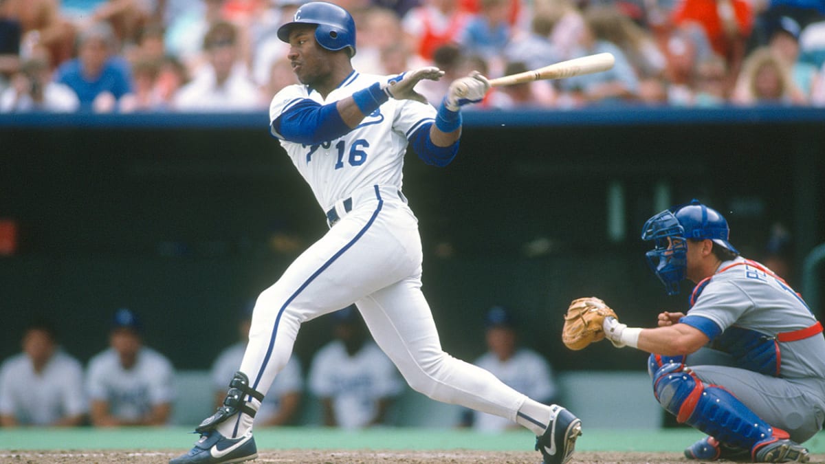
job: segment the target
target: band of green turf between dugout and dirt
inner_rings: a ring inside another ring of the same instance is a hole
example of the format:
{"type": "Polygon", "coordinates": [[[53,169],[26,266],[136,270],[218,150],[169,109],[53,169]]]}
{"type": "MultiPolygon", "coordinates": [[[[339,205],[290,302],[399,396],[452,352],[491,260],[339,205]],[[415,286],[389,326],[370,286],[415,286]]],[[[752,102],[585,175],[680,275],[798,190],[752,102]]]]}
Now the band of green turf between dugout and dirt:
{"type": "MultiPolygon", "coordinates": [[[[692,428],[586,429],[577,441],[579,451],[681,452],[700,438],[692,428]]],[[[197,438],[191,428],[0,428],[0,449],[186,449],[197,438]]],[[[440,428],[372,428],[345,431],[334,428],[260,428],[255,441],[260,449],[478,449],[522,451],[531,449],[530,433],[515,430],[484,434],[440,428]]],[[[816,454],[825,453],[825,433],[805,443],[816,454]]]]}

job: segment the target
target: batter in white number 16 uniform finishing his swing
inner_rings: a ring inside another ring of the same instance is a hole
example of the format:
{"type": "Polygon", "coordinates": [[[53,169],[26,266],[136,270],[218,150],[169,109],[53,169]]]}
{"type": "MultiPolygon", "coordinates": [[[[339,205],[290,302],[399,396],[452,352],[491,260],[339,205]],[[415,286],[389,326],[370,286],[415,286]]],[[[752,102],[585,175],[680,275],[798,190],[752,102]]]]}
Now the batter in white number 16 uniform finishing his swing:
{"type": "Polygon", "coordinates": [[[300,324],[353,302],[414,390],[514,420],[536,434],[545,462],[568,461],[581,421],[445,353],[421,291],[421,239],[402,192],[404,154],[409,145],[425,163],[450,163],[459,147],[460,107],[481,101],[487,79],[478,73],[458,79],[466,95],[459,98],[451,86],[436,110],[413,88],[441,78],[439,69],[358,73],[351,65],[355,22],[332,3],[299,7],[278,36],[290,45],[287,58],[300,84],[272,99],[271,133],[309,184],[330,230],[258,297],[224,406],[196,428],[195,447],[171,462],[256,457],[252,419],[289,359],[300,324]]]}

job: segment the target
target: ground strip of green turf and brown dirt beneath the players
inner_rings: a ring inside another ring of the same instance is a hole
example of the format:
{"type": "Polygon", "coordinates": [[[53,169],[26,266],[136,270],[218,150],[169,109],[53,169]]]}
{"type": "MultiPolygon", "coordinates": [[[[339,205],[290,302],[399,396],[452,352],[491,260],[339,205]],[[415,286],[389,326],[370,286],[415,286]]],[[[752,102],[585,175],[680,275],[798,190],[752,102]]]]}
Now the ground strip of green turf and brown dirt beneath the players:
{"type": "MultiPolygon", "coordinates": [[[[185,452],[190,428],[2,429],[0,463],[164,463],[185,452]]],[[[269,428],[255,433],[256,462],[450,463],[540,462],[530,433],[474,433],[441,428],[269,428]]],[[[687,444],[700,438],[691,428],[585,429],[573,462],[688,462],[687,444]]],[[[807,443],[811,462],[825,462],[825,433],[807,443]]]]}

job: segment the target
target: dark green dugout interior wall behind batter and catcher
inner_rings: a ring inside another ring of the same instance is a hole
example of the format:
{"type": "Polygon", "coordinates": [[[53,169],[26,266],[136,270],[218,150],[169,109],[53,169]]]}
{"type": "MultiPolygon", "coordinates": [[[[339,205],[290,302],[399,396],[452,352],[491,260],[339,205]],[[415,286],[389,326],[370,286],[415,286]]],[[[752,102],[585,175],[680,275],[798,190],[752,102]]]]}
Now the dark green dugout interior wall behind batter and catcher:
{"type": "MultiPolygon", "coordinates": [[[[468,115],[449,167],[408,154],[404,192],[421,220],[424,291],[450,353],[478,355],[483,312],[504,304],[519,312],[526,343],[559,369],[643,366],[642,353],[606,343],[568,352],[559,331],[577,296],[601,296],[629,324],[685,309],[686,295],[664,296],[639,241],[658,184],[673,202],[697,197],[723,211],[750,258],[761,258],[771,223],[782,221],[797,239],[799,270],[825,241],[825,118],[678,115],[468,115]],[[606,232],[615,185],[626,213],[617,242],[606,232]],[[526,252],[541,243],[548,253],[526,252]]],[[[18,253],[0,257],[0,357],[19,349],[31,315],[46,313],[85,361],[105,347],[114,310],[130,306],[147,343],[177,367],[208,367],[233,341],[238,309],[323,234],[319,207],[265,123],[161,120],[0,121],[0,218],[21,234],[18,253]],[[273,236],[297,250],[277,251],[273,236]]],[[[308,362],[327,339],[325,322],[310,322],[295,353],[308,362]]]]}

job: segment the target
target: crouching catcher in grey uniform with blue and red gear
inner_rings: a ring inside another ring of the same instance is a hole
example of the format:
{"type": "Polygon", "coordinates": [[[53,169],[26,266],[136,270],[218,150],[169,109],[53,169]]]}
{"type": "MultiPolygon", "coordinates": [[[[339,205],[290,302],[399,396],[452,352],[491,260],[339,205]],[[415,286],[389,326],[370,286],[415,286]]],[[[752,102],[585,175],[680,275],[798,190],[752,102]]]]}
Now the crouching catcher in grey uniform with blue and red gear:
{"type": "Polygon", "coordinates": [[[581,349],[606,338],[651,353],[658,402],[708,435],[686,448],[689,459],[808,462],[800,443],[825,420],[823,326],[780,276],[739,256],[728,234],[724,217],[699,201],[654,215],[642,232],[655,245],[648,263],[669,295],[695,282],[690,309],[641,329],[597,298],[573,301],[563,341],[581,349]]]}

